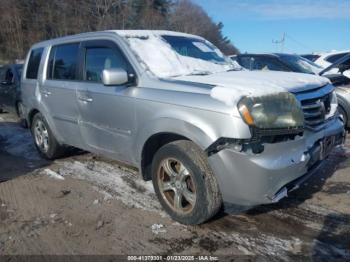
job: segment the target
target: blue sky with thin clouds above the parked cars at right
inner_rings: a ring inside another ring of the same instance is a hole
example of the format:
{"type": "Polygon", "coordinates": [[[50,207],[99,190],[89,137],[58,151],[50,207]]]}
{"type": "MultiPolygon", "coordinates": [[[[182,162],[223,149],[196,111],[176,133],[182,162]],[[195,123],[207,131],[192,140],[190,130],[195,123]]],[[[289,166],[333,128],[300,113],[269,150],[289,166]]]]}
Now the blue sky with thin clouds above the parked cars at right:
{"type": "Polygon", "coordinates": [[[350,0],[194,0],[241,52],[350,49],[350,0]]]}

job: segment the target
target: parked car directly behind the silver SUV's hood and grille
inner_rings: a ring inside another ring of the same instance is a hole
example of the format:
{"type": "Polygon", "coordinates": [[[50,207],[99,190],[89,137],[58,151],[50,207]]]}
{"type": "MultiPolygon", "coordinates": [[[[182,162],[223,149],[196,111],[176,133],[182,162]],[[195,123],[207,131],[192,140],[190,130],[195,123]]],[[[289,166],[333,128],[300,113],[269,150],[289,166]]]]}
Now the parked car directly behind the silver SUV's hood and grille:
{"type": "MultiPolygon", "coordinates": [[[[346,128],[350,128],[350,78],[339,73],[329,74],[329,71],[325,71],[321,66],[293,54],[240,54],[234,59],[249,70],[286,71],[317,75],[322,73],[336,87],[339,112],[343,116],[346,128]]],[[[336,65],[335,67],[339,68],[336,71],[341,71],[341,68],[350,68],[349,63],[350,57],[345,62],[336,65]]],[[[332,68],[329,68],[329,70],[332,70],[332,68]]]]}

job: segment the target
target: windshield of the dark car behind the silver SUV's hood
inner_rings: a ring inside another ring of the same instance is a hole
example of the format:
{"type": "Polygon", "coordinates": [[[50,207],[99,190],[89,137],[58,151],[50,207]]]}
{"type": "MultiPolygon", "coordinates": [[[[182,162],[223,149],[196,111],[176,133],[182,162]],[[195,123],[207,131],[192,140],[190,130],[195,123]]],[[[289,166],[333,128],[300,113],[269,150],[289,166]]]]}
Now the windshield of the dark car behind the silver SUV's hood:
{"type": "Polygon", "coordinates": [[[300,73],[318,74],[323,69],[314,62],[298,55],[282,55],[280,59],[300,73]]]}

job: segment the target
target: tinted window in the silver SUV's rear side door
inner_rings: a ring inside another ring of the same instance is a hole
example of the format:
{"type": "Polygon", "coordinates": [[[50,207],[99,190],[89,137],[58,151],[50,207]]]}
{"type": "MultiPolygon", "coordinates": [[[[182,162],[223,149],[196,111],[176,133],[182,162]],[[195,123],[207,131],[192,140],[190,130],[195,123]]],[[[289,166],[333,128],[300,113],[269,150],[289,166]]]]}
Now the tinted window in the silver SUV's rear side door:
{"type": "Polygon", "coordinates": [[[78,53],[78,43],[54,46],[49,56],[47,78],[77,80],[78,53]]]}

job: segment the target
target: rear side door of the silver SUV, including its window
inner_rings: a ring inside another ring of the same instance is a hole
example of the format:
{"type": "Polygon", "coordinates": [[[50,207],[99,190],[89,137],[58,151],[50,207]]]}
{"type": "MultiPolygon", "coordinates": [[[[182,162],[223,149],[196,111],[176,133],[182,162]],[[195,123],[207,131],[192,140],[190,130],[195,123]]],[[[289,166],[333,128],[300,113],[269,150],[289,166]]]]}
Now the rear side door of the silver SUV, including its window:
{"type": "Polygon", "coordinates": [[[76,102],[76,90],[82,84],[78,74],[79,47],[79,42],[52,46],[46,77],[40,86],[42,105],[55,131],[64,143],[76,147],[82,146],[76,102]]]}

